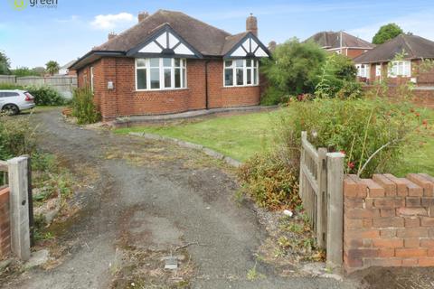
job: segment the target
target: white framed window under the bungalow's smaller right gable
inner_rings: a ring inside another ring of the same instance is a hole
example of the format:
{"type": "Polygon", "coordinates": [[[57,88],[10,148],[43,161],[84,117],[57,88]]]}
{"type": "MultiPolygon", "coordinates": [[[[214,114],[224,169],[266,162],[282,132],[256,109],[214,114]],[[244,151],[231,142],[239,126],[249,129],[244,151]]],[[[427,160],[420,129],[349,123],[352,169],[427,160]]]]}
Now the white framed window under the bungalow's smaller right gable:
{"type": "Polygon", "coordinates": [[[224,61],[223,78],[225,87],[256,86],[259,84],[259,61],[224,61]]]}

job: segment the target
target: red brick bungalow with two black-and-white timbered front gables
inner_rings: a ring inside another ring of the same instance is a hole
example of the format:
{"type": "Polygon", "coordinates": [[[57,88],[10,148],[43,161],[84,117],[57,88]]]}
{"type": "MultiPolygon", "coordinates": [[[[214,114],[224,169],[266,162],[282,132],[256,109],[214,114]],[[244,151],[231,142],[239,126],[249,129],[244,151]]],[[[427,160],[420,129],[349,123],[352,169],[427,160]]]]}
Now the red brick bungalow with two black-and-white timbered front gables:
{"type": "Polygon", "coordinates": [[[256,17],[231,35],[186,14],[141,13],[138,23],[75,61],[80,88],[89,86],[104,120],[259,104],[256,17]]]}

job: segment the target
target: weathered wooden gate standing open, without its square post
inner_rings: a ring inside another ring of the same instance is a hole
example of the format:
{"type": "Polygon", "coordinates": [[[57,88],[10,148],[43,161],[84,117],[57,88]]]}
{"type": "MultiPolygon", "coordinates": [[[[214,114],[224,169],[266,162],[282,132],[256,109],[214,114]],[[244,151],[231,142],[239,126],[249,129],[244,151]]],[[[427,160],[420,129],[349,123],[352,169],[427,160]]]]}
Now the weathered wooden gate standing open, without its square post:
{"type": "Polygon", "coordinates": [[[327,168],[325,148],[316,148],[307,141],[307,132],[301,135],[300,198],[316,232],[319,247],[326,246],[327,228],[327,168]]]}

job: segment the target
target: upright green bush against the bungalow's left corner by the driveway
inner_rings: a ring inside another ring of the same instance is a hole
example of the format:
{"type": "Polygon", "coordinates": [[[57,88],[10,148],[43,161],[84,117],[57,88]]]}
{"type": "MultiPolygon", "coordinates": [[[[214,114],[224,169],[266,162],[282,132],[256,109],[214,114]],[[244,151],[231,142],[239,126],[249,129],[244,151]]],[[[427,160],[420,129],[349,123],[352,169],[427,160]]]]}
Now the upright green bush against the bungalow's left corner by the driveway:
{"type": "Polygon", "coordinates": [[[101,119],[101,115],[93,103],[90,88],[75,89],[71,101],[72,116],[77,117],[79,125],[93,124],[101,119]]]}

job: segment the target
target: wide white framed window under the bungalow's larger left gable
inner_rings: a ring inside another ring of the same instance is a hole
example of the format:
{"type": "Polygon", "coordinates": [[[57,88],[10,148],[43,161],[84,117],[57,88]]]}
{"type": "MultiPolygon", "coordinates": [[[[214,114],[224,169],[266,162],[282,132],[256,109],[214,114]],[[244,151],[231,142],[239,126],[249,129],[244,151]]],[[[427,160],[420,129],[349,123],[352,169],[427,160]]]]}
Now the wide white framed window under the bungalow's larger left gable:
{"type": "Polygon", "coordinates": [[[185,89],[186,63],[179,58],[137,58],[136,90],[185,89]]]}

